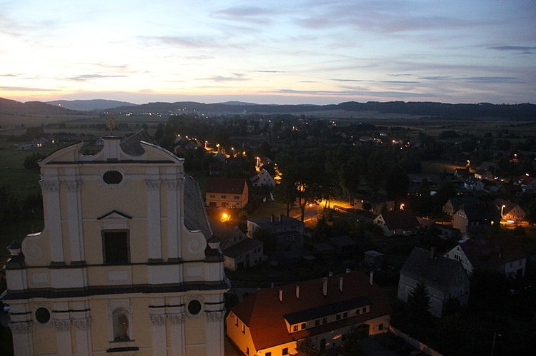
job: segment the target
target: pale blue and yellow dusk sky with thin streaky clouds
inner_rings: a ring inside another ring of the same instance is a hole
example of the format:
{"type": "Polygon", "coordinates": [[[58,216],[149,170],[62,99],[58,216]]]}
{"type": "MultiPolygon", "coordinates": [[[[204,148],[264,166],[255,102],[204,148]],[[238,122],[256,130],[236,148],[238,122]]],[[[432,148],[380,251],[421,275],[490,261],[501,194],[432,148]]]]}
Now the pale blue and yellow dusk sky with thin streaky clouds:
{"type": "Polygon", "coordinates": [[[535,0],[0,0],[17,101],[535,103],[535,0]]]}

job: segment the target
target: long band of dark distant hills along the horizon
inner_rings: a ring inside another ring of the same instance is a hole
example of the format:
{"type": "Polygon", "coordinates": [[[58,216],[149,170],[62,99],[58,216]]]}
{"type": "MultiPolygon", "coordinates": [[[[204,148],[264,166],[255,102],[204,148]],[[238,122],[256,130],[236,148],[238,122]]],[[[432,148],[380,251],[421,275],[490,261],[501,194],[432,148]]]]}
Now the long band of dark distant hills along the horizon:
{"type": "Polygon", "coordinates": [[[74,100],[74,101],[19,101],[0,98],[0,113],[11,114],[66,114],[80,113],[79,111],[108,111],[109,113],[161,113],[172,115],[184,112],[197,111],[209,115],[226,114],[307,114],[322,113],[323,111],[370,111],[374,113],[394,113],[412,116],[434,116],[437,118],[472,119],[472,118],[502,118],[515,120],[536,121],[536,105],[522,103],[515,105],[476,103],[476,104],[449,104],[417,101],[369,101],[330,105],[265,105],[244,103],[241,101],[228,101],[226,103],[197,103],[194,101],[177,101],[175,103],[155,102],[136,105],[124,101],[113,100],[74,100]],[[53,105],[50,105],[53,104],[53,105]],[[59,106],[61,105],[61,106],[59,106]],[[71,110],[69,110],[71,109],[71,110]],[[74,111],[77,110],[77,111],[74,111]]]}

